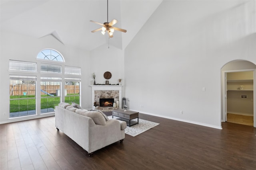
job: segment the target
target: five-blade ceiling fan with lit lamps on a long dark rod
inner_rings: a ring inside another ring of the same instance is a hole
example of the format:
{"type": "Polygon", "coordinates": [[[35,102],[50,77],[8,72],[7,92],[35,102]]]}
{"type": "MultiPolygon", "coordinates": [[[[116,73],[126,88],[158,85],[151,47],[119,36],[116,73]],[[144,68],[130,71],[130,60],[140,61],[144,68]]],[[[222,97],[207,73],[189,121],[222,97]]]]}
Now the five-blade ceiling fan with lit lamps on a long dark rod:
{"type": "Polygon", "coordinates": [[[101,33],[102,33],[103,35],[104,35],[106,32],[108,32],[108,36],[109,36],[110,38],[113,37],[114,30],[116,30],[116,31],[121,31],[121,32],[126,33],[126,30],[125,30],[125,29],[118,28],[118,27],[113,27],[113,25],[118,22],[117,20],[114,19],[114,20],[108,22],[108,0],[107,0],[107,22],[104,22],[104,23],[102,24],[102,23],[99,23],[99,22],[96,22],[96,21],[92,21],[92,20],[90,20],[90,21],[91,21],[91,22],[94,22],[94,23],[97,23],[97,24],[99,24],[99,25],[102,25],[101,28],[95,29],[95,30],[91,31],[92,33],[101,30],[101,33]]]}

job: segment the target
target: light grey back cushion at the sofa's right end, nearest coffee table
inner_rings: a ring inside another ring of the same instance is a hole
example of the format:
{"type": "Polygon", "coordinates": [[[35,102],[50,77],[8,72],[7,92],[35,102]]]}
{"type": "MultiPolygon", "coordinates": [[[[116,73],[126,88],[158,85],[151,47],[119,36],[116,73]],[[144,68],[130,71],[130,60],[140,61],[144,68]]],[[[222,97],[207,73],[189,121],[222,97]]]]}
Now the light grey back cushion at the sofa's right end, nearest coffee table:
{"type": "Polygon", "coordinates": [[[92,118],[95,124],[106,125],[104,116],[99,111],[89,111],[84,109],[76,109],[76,113],[92,118]]]}

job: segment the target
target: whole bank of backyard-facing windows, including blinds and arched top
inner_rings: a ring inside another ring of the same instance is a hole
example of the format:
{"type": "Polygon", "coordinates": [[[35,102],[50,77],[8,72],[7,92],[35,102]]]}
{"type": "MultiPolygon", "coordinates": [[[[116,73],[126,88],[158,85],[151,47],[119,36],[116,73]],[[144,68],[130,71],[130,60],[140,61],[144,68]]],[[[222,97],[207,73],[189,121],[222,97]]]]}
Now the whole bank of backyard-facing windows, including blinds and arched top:
{"type": "Polygon", "coordinates": [[[43,49],[37,59],[9,60],[10,118],[54,113],[60,102],[80,104],[81,68],[64,65],[54,49],[43,49]]]}

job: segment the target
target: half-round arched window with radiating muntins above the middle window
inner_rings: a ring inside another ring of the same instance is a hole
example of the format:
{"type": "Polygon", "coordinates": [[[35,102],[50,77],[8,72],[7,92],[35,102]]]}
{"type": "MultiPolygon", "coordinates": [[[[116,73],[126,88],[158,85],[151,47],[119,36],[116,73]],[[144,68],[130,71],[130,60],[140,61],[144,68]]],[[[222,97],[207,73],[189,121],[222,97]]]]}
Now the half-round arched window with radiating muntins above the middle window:
{"type": "Polygon", "coordinates": [[[64,62],[63,56],[54,49],[43,49],[38,53],[37,59],[64,62]]]}

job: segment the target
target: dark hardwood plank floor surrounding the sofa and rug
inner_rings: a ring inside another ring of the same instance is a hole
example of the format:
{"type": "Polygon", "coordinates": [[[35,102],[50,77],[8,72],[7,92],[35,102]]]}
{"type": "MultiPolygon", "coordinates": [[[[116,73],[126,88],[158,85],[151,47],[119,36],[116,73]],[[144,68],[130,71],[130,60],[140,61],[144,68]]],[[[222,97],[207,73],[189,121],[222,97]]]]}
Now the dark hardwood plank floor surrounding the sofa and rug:
{"type": "Polygon", "coordinates": [[[1,170],[255,170],[256,128],[223,129],[140,114],[160,125],[93,157],[55,128],[55,117],[0,125],[1,170]]]}

